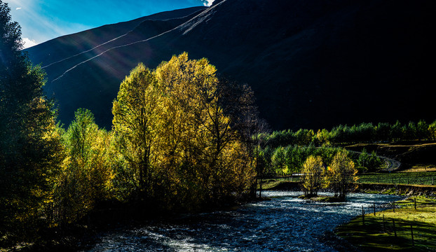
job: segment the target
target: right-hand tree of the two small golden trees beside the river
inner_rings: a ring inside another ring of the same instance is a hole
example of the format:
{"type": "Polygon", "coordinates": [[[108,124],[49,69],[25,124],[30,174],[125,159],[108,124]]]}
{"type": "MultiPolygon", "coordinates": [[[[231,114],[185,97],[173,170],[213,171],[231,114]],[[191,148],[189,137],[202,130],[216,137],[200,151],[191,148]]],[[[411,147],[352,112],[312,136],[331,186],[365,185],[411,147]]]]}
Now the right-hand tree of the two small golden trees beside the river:
{"type": "Polygon", "coordinates": [[[332,188],[335,197],[346,199],[347,193],[355,188],[357,169],[353,160],[348,158],[346,151],[336,153],[332,164],[327,167],[326,186],[332,188]]]}

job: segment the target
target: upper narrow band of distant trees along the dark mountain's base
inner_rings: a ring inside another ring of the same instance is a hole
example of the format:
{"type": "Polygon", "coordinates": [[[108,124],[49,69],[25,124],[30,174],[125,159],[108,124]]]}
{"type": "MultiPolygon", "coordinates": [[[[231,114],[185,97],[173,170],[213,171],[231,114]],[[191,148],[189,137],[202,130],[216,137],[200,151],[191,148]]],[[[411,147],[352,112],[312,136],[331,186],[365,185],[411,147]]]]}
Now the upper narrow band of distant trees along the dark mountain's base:
{"type": "Polygon", "coordinates": [[[360,125],[339,125],[328,131],[325,129],[314,130],[300,129],[297,131],[282,130],[271,134],[259,136],[264,139],[266,145],[271,148],[278,146],[338,146],[342,144],[374,143],[374,142],[398,142],[398,141],[435,141],[436,120],[426,123],[424,120],[418,123],[409,122],[402,124],[397,121],[390,123],[361,123],[360,125]]]}

